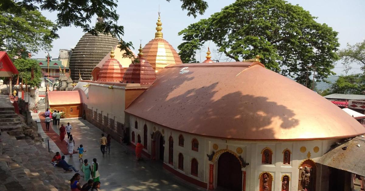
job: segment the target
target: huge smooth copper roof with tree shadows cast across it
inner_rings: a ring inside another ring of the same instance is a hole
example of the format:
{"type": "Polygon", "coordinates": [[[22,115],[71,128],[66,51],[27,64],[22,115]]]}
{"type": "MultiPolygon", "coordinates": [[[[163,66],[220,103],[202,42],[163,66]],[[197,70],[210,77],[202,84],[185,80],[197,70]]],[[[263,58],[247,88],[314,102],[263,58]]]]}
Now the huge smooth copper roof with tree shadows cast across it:
{"type": "Polygon", "coordinates": [[[126,112],[177,131],[224,139],[365,134],[341,108],[260,62],[168,66],[126,112]]]}

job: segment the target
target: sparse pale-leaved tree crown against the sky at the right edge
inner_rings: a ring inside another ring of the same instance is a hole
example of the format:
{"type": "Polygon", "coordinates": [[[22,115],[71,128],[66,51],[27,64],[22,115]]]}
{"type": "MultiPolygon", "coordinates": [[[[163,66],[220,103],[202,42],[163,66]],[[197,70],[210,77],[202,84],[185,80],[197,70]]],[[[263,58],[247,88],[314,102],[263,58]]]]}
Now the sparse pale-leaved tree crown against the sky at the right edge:
{"type": "Polygon", "coordinates": [[[352,68],[351,63],[361,65],[361,69],[365,70],[365,40],[355,45],[347,43],[347,48],[339,51],[338,56],[345,66],[346,73],[352,68]]]}

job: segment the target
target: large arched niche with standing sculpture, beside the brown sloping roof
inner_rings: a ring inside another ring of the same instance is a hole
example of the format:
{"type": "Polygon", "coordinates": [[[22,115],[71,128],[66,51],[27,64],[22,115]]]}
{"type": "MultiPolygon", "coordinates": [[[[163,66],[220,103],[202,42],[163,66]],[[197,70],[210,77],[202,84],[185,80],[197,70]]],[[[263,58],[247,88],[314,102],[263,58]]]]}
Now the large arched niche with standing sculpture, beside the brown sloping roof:
{"type": "Polygon", "coordinates": [[[298,191],[315,191],[315,187],[316,163],[308,158],[299,165],[298,191]]]}

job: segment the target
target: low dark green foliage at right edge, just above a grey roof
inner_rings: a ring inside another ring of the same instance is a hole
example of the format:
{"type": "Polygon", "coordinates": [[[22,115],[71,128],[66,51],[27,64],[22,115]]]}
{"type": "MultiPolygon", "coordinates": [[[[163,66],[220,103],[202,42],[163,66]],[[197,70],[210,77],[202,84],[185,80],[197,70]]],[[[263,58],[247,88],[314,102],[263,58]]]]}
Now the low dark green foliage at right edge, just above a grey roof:
{"type": "Polygon", "coordinates": [[[339,76],[335,83],[333,83],[329,89],[324,91],[323,95],[329,95],[332,93],[362,95],[363,91],[365,91],[365,75],[354,74],[339,76]]]}

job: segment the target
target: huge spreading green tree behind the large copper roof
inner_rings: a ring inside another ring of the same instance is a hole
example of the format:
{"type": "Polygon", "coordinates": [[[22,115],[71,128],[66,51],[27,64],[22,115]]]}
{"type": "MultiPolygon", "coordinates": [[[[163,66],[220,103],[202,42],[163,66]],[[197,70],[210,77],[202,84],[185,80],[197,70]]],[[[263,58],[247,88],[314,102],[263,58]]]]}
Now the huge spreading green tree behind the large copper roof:
{"type": "Polygon", "coordinates": [[[298,5],[284,0],[237,0],[220,12],[178,33],[184,63],[196,62],[195,53],[207,41],[235,61],[262,56],[266,68],[306,83],[306,66],[315,66],[323,79],[338,60],[337,32],[298,5]]]}

